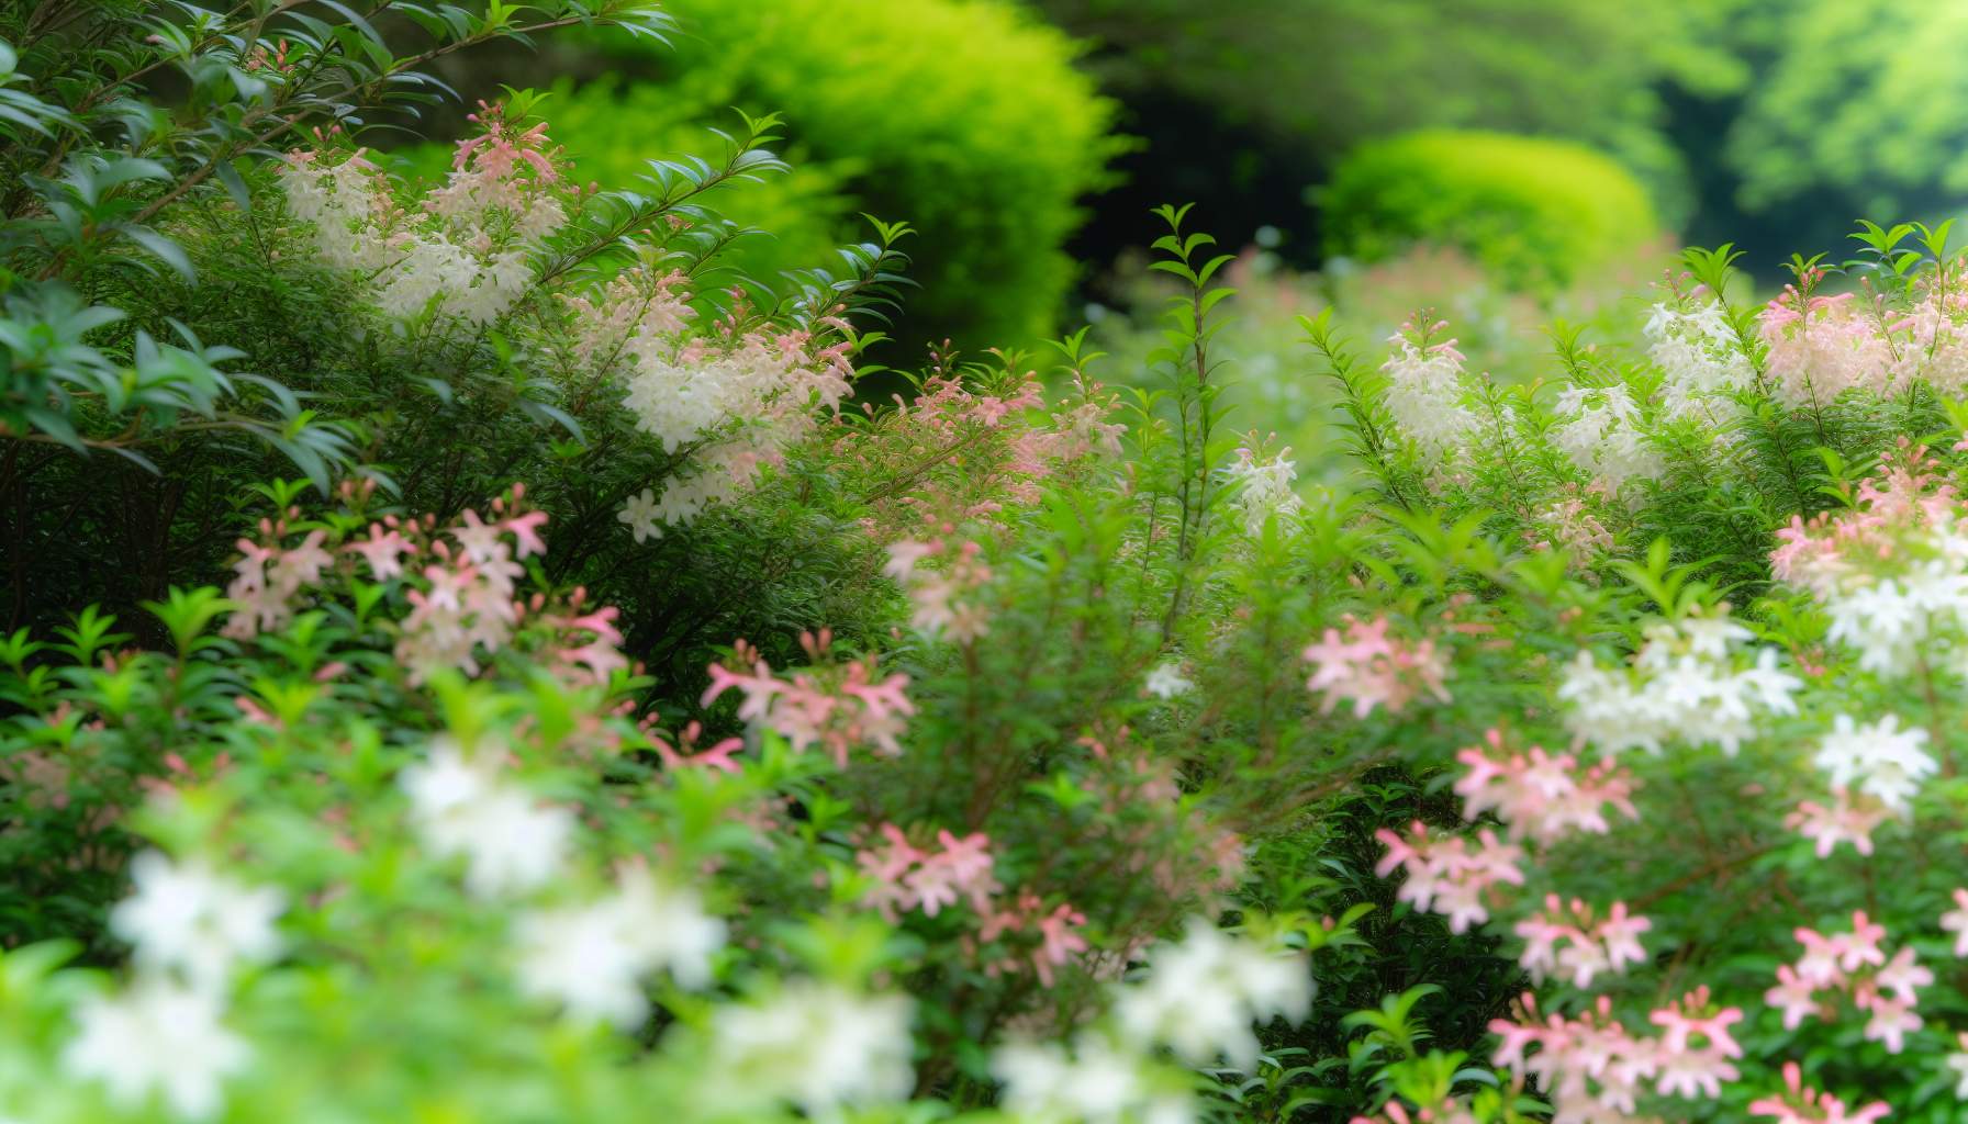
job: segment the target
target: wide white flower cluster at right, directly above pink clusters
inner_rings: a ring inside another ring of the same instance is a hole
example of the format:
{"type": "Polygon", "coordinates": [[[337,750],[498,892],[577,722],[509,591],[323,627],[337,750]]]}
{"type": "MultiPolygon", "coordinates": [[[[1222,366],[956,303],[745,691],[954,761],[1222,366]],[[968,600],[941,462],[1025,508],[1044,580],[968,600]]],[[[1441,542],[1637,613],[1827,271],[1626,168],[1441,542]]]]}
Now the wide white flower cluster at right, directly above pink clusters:
{"type": "Polygon", "coordinates": [[[1559,685],[1567,724],[1602,754],[1661,752],[1667,742],[1716,744],[1726,754],[1755,734],[1759,715],[1795,715],[1803,681],[1777,669],[1777,650],[1742,659],[1750,630],[1726,616],[1659,622],[1630,667],[1578,657],[1559,685]]]}

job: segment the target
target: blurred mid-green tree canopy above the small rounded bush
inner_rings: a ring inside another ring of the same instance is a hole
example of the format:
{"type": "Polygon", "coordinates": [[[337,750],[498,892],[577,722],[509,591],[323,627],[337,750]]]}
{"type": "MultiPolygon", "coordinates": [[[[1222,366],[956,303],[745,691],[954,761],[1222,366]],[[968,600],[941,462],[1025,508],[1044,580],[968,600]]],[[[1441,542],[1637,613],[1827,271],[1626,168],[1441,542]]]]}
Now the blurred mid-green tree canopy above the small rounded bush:
{"type": "Polygon", "coordinates": [[[1413,128],[1568,136],[1620,156],[1681,219],[1657,87],[1722,93],[1738,4],[1661,0],[1039,0],[1108,49],[1116,91],[1171,91],[1313,154],[1413,128]]]}

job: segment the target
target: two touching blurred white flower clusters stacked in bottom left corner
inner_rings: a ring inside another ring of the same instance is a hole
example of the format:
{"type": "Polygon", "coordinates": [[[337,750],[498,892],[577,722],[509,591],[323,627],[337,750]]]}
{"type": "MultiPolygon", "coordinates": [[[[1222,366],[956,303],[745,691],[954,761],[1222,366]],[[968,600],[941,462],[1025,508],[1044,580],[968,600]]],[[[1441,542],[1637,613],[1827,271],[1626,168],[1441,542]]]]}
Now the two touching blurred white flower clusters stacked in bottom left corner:
{"type": "Polygon", "coordinates": [[[120,994],[77,1004],[61,1065],[100,1081],[120,1108],[161,1096],[177,1116],[207,1118],[252,1057],[220,1018],[238,967],[279,955],[281,896],[157,852],[138,854],[130,878],[136,892],[110,911],[110,929],[136,945],[138,974],[120,994]]]}

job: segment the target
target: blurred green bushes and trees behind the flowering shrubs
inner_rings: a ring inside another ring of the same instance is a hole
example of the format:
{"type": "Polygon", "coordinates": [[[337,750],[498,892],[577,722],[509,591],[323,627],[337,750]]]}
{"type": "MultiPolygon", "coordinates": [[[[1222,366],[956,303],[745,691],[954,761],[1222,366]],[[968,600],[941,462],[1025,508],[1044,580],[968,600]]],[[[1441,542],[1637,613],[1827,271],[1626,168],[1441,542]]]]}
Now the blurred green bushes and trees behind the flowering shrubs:
{"type": "Polygon", "coordinates": [[[795,169],[720,189],[722,211],[773,230],[732,260],[771,283],[858,238],[864,213],[909,222],[921,289],[876,352],[893,364],[941,341],[1029,348],[1120,307],[1116,262],[1165,201],[1321,297],[1348,270],[1448,250],[1551,313],[1592,303],[1580,274],[1643,276],[1669,242],[1734,242],[1771,283],[1793,250],[1838,256],[1854,217],[1938,220],[1968,199],[1958,0],[669,10],[667,47],[594,35],[447,77],[468,96],[553,89],[555,138],[604,187],[714,148],[732,110],[783,114],[795,169]]]}

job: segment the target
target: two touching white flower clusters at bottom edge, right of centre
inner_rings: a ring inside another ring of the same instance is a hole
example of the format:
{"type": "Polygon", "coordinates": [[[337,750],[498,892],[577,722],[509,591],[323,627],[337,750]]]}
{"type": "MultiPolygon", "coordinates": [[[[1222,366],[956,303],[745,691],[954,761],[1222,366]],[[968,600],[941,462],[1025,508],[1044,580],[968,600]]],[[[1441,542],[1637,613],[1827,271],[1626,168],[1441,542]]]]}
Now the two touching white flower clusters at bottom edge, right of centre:
{"type": "Polygon", "coordinates": [[[1145,978],[1118,984],[1106,1030],[1073,1047],[1012,1041],[992,1053],[1004,1106],[1023,1120],[1187,1124],[1197,1106],[1151,1057],[1169,1047],[1189,1065],[1228,1059],[1250,1069],[1254,1022],[1303,1020],[1313,1002],[1303,955],[1279,953],[1191,919],[1179,943],[1157,945],[1145,978]]]}

